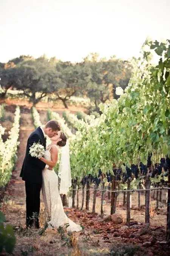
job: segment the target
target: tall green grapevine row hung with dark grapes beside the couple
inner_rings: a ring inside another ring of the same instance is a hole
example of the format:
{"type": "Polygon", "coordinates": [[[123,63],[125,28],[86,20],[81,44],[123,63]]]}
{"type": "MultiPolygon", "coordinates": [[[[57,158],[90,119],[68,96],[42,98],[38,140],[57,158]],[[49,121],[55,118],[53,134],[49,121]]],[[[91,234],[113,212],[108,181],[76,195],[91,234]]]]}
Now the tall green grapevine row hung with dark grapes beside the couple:
{"type": "MultiPolygon", "coordinates": [[[[116,191],[146,189],[145,222],[149,223],[150,188],[170,187],[169,97],[170,41],[146,41],[125,94],[111,104],[100,104],[100,118],[87,123],[65,112],[63,117],[77,130],[70,139],[74,188],[81,184],[90,191],[91,183],[95,189],[101,184],[104,190],[107,181],[116,191]]],[[[129,208],[130,193],[127,198],[129,208]]],[[[87,209],[88,199],[87,193],[87,209]]],[[[113,192],[111,213],[115,200],[113,192]]],[[[170,192],[168,213],[169,201],[170,192]]]]}

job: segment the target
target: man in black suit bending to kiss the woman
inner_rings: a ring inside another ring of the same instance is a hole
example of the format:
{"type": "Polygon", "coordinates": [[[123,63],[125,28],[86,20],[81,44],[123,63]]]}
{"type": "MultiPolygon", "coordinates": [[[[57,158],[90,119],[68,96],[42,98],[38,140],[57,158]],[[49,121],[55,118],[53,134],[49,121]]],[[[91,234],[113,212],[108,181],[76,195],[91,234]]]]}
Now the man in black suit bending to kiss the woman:
{"type": "Polygon", "coordinates": [[[23,161],[20,177],[25,181],[26,191],[26,226],[35,225],[39,228],[40,212],[40,190],[42,187],[42,170],[46,167],[38,158],[33,158],[29,154],[29,148],[34,142],[40,142],[46,148],[46,136],[49,138],[57,135],[60,131],[60,124],[56,120],[50,120],[45,127],[38,127],[28,138],[26,145],[26,155],[23,161]]]}

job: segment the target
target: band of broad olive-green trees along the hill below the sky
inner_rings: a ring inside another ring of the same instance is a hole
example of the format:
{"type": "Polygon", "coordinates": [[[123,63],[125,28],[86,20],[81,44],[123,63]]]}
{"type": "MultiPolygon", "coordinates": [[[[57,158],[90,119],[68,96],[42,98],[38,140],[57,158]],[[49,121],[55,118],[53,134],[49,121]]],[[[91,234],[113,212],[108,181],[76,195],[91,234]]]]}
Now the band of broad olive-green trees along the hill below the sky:
{"type": "Polygon", "coordinates": [[[36,105],[48,95],[53,100],[61,100],[65,108],[71,96],[86,95],[94,109],[99,111],[99,103],[119,98],[116,87],[128,85],[132,72],[131,63],[112,56],[100,58],[91,53],[82,62],[73,64],[55,57],[48,59],[21,55],[7,63],[0,63],[0,73],[4,97],[9,88],[23,91],[36,105]],[[52,95],[53,94],[53,95],[52,95]]]}

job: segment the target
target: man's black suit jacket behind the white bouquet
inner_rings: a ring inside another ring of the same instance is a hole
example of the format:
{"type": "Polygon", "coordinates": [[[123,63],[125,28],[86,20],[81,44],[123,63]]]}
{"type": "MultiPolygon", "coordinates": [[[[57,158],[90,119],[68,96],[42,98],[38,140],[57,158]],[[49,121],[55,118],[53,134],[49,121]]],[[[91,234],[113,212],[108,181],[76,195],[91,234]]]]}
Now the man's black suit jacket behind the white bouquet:
{"type": "Polygon", "coordinates": [[[33,131],[28,138],[25,159],[23,161],[20,177],[22,177],[22,180],[24,181],[42,184],[42,170],[45,168],[46,164],[29,154],[29,148],[34,142],[40,142],[40,144],[46,148],[46,139],[40,127],[33,131]]]}

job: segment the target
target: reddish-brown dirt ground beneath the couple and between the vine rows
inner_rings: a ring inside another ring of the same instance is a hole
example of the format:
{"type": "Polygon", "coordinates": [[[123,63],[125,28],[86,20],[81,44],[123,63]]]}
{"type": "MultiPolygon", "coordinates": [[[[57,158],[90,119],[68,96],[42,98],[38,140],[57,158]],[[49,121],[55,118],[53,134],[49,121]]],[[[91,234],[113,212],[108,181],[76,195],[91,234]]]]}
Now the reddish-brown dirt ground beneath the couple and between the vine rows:
{"type": "MultiPolygon", "coordinates": [[[[43,111],[43,109],[40,110],[43,111]]],[[[42,123],[44,123],[46,122],[46,117],[45,113],[42,114],[41,111],[40,118],[42,123]]],[[[136,256],[167,256],[170,253],[170,248],[167,245],[158,244],[158,242],[165,241],[166,238],[166,216],[164,212],[164,204],[162,203],[162,208],[160,208],[159,214],[158,212],[155,212],[153,218],[151,218],[150,227],[145,226],[143,225],[145,218],[144,209],[141,211],[135,209],[137,197],[135,194],[132,197],[131,225],[138,224],[138,226],[127,228],[125,227],[125,223],[113,224],[111,221],[103,222],[103,219],[101,219],[99,215],[101,202],[99,192],[96,201],[96,212],[98,214],[90,213],[93,203],[92,195],[89,212],[85,210],[79,211],[79,209],[65,208],[66,214],[76,223],[82,225],[82,232],[73,234],[65,233],[64,236],[62,236],[60,231],[57,231],[56,229],[45,230],[42,235],[40,235],[40,231],[42,231],[42,229],[38,231],[34,229],[26,230],[25,183],[19,177],[19,174],[25,156],[27,138],[33,130],[34,126],[30,110],[26,106],[23,106],[21,107],[18,161],[15,166],[15,170],[12,173],[11,181],[8,183],[5,197],[1,205],[1,210],[6,216],[6,223],[10,223],[14,226],[15,230],[17,242],[13,255],[100,256],[109,255],[110,249],[113,246],[120,246],[121,244],[124,246],[131,245],[132,247],[139,245],[139,250],[135,254],[136,256]],[[150,242],[150,244],[145,245],[145,242],[150,242]]],[[[143,197],[142,200],[144,201],[143,197]]],[[[153,203],[155,203],[155,201],[153,201],[153,203]]],[[[81,193],[79,193],[79,206],[80,205],[81,193]]],[[[41,228],[43,228],[45,214],[42,200],[40,208],[40,225],[41,228]]],[[[126,215],[126,208],[122,206],[122,195],[119,195],[116,211],[126,215]]],[[[104,202],[104,213],[110,214],[110,202],[107,199],[107,194],[104,202]]],[[[2,253],[2,255],[8,254],[2,253]]]]}

